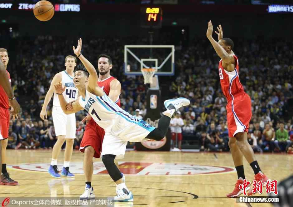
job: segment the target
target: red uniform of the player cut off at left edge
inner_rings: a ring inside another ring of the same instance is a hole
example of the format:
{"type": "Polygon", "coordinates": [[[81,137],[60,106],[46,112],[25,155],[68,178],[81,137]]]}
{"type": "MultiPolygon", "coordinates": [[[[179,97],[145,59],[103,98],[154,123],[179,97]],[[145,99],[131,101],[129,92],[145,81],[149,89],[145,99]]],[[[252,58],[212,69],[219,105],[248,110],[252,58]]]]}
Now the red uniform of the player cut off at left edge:
{"type": "MultiPolygon", "coordinates": [[[[9,82],[11,83],[10,74],[6,70],[8,75],[9,82]]],[[[9,129],[9,104],[8,104],[8,96],[0,86],[0,140],[8,138],[8,129],[9,129]]]]}

